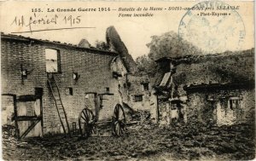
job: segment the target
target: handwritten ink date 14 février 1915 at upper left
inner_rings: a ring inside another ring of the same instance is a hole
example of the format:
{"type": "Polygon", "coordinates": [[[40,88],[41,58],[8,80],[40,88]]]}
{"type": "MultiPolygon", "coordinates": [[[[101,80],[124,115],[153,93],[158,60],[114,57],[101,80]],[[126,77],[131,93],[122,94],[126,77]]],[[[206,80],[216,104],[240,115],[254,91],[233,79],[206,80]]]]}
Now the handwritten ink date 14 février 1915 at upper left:
{"type": "MultiPolygon", "coordinates": [[[[40,12],[40,9],[34,9],[34,12],[40,12]]],[[[33,14],[32,16],[26,17],[24,15],[15,16],[15,19],[12,21],[11,26],[22,26],[28,27],[30,32],[33,32],[33,26],[47,26],[50,24],[58,25],[64,23],[68,26],[74,26],[81,22],[81,15],[73,16],[73,15],[40,15],[33,14]]]]}

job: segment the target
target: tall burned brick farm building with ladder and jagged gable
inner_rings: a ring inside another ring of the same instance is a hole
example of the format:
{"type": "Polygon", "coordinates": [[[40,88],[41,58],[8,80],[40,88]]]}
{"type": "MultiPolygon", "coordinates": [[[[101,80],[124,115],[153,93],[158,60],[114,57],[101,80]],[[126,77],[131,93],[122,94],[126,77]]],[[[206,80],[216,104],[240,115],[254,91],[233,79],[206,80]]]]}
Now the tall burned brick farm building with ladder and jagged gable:
{"type": "Polygon", "coordinates": [[[113,27],[105,50],[85,39],[72,45],[2,33],[1,40],[3,124],[15,125],[18,138],[75,133],[84,108],[108,122],[118,104],[130,115],[131,106],[144,106],[128,81],[135,62],[113,27]]]}

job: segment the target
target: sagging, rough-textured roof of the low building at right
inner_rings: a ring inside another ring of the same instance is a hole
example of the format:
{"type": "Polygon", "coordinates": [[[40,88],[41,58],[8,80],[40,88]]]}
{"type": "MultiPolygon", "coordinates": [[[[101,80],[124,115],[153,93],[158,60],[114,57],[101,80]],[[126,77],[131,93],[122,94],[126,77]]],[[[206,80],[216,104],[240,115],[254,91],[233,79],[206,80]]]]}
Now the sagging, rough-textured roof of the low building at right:
{"type": "MultiPolygon", "coordinates": [[[[172,81],[177,86],[201,88],[254,83],[254,49],[215,55],[163,57],[156,62],[159,67],[155,75],[154,86],[156,87],[160,87],[165,82],[166,68],[171,62],[175,71],[172,74],[172,81]],[[212,84],[215,85],[212,86],[212,84]]],[[[168,70],[171,72],[171,69],[168,70]]]]}

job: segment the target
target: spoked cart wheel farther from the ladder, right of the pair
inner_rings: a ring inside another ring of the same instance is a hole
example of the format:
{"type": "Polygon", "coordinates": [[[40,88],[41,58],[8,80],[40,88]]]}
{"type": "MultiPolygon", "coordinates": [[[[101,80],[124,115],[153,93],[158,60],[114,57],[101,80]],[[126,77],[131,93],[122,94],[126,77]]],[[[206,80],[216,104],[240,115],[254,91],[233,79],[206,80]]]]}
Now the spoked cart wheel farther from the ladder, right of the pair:
{"type": "Polygon", "coordinates": [[[112,133],[113,135],[123,135],[126,129],[125,111],[120,104],[117,104],[113,110],[112,133]]]}

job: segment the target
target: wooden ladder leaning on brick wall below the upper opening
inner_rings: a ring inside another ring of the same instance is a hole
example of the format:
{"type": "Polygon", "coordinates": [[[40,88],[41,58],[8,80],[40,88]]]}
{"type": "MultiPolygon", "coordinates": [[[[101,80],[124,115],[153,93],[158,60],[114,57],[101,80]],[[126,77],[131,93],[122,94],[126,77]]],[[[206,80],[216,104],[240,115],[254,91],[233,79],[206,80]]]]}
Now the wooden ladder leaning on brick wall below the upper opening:
{"type": "Polygon", "coordinates": [[[62,104],[62,101],[61,101],[59,86],[56,83],[54,74],[52,74],[51,78],[49,78],[49,75],[47,75],[47,76],[48,76],[49,89],[50,89],[50,92],[51,92],[51,94],[54,98],[54,101],[55,101],[55,106],[56,106],[58,116],[59,116],[60,121],[61,121],[62,129],[63,129],[65,135],[68,134],[69,136],[71,136],[69,124],[68,124],[68,121],[67,121],[67,113],[66,113],[65,108],[64,108],[64,106],[62,104]]]}

